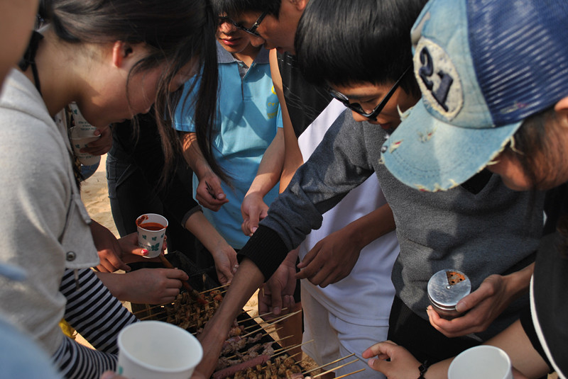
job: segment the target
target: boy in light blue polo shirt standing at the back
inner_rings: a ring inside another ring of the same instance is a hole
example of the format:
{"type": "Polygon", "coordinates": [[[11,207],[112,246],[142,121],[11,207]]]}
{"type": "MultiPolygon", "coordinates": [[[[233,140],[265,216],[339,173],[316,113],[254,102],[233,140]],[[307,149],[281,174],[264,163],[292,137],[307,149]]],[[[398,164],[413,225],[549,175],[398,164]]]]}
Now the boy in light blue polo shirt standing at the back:
{"type": "MultiPolygon", "coordinates": [[[[241,202],[257,174],[264,152],[277,134],[279,111],[268,63],[268,51],[251,45],[249,34],[229,19],[220,17],[217,32],[219,102],[217,128],[212,131],[211,154],[226,178],[207,164],[197,145],[192,107],[181,102],[175,113],[175,128],[185,132],[185,159],[195,172],[193,191],[209,222],[234,249],[249,239],[241,231],[241,202]]],[[[191,81],[185,85],[184,96],[191,81]]],[[[182,97],[183,98],[183,97],[182,97]]],[[[281,132],[281,131],[280,131],[281,132]]],[[[273,188],[265,202],[278,196],[273,188]]],[[[202,264],[200,264],[202,266],[202,264]]]]}

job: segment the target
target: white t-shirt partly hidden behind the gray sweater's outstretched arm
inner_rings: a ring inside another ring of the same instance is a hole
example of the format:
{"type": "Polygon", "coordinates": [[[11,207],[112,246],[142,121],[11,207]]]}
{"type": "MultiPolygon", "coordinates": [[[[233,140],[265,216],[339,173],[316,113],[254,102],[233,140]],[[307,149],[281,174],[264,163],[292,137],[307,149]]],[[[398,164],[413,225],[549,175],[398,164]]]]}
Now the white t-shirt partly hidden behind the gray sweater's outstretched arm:
{"type": "MultiPolygon", "coordinates": [[[[333,100],[302,132],[298,138],[298,146],[304,162],[320,144],[334,120],[345,109],[342,103],[333,100]]],[[[380,126],[377,125],[377,128],[380,126]]],[[[300,261],[321,239],[385,203],[378,179],[376,175],[371,175],[361,186],[347,194],[341,202],[323,215],[322,227],[319,230],[312,230],[300,244],[300,261]]],[[[344,321],[369,326],[386,326],[395,294],[391,271],[399,251],[396,234],[394,231],[390,232],[361,250],[353,271],[342,281],[321,288],[305,280],[305,288],[329,312],[344,321]]]]}

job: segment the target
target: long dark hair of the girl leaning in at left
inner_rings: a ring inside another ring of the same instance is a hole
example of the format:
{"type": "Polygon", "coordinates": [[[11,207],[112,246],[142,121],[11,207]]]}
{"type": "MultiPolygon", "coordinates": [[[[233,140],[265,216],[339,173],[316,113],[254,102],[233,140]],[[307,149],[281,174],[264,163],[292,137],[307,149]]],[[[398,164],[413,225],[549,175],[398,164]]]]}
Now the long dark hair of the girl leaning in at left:
{"type": "MultiPolygon", "coordinates": [[[[65,43],[120,40],[145,44],[149,54],[134,64],[129,79],[137,72],[167,64],[158,81],[154,106],[166,169],[176,154],[181,154],[178,135],[171,126],[181,92],[170,93],[170,83],[190,62],[195,62],[197,72],[201,72],[195,100],[197,135],[212,129],[217,106],[217,15],[209,1],[41,0],[39,16],[65,43]]],[[[201,143],[200,147],[212,169],[219,171],[210,150],[201,143]]]]}

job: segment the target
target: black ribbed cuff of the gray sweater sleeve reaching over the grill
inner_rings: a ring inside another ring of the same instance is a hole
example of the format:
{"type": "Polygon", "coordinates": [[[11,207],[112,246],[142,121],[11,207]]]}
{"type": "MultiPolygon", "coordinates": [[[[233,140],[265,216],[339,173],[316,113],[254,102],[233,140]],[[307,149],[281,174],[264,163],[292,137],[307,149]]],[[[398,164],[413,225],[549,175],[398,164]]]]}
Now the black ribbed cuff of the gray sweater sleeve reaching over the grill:
{"type": "Polygon", "coordinates": [[[249,242],[239,251],[237,258],[239,262],[244,257],[253,261],[262,272],[264,281],[267,281],[287,255],[288,248],[280,236],[271,228],[259,225],[249,242]]]}

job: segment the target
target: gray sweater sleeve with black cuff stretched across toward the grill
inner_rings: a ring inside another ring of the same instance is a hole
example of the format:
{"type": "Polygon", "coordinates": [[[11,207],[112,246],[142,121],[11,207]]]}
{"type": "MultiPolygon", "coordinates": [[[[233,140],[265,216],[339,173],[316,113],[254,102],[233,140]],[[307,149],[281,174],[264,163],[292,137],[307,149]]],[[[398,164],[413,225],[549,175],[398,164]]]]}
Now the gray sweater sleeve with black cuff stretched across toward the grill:
{"type": "MultiPolygon", "coordinates": [[[[365,146],[361,124],[353,120],[351,111],[342,113],[261,221],[261,226],[275,232],[280,239],[278,243],[284,246],[256,247],[255,241],[264,240],[258,235],[251,238],[239,255],[249,257],[266,278],[270,277],[288,251],[297,247],[312,230],[321,227],[322,215],[373,174],[365,146]],[[280,252],[275,254],[274,251],[280,252]],[[268,257],[272,260],[270,268],[266,264],[268,257]]],[[[265,228],[259,228],[254,235],[263,230],[265,228]]]]}

